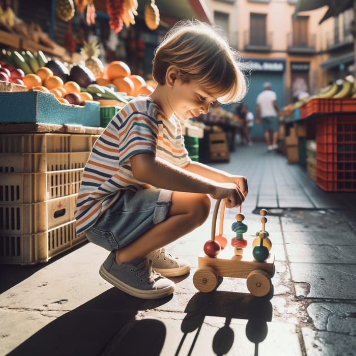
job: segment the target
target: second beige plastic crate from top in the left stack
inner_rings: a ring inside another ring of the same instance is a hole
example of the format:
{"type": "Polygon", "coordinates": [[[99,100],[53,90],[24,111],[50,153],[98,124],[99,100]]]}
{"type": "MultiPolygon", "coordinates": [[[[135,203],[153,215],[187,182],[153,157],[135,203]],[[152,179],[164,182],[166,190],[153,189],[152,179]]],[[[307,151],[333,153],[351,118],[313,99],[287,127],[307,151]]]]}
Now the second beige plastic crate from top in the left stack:
{"type": "Polygon", "coordinates": [[[0,173],[52,172],[83,168],[90,152],[60,153],[3,153],[0,154],[0,173]]]}

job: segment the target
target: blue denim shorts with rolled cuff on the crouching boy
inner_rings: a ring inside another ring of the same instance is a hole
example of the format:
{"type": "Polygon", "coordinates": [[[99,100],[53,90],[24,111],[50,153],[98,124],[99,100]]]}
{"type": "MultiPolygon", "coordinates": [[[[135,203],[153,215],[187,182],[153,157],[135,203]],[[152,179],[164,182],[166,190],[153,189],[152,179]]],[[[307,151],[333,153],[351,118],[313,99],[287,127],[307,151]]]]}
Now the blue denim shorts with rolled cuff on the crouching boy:
{"type": "Polygon", "coordinates": [[[108,251],[122,248],[167,218],[172,191],[143,189],[124,194],[85,231],[87,239],[108,251]]]}

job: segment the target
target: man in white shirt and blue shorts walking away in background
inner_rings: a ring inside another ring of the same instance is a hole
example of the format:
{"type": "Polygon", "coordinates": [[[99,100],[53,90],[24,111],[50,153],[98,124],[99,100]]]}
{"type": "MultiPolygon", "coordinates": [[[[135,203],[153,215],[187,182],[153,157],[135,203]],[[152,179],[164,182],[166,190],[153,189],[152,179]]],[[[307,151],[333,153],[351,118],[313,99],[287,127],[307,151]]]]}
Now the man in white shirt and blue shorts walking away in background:
{"type": "Polygon", "coordinates": [[[271,90],[270,83],[263,84],[263,92],[257,97],[256,105],[256,124],[262,123],[264,138],[268,145],[268,150],[278,148],[278,111],[276,93],[271,90]],[[272,139],[271,139],[272,136],[272,139]]]}

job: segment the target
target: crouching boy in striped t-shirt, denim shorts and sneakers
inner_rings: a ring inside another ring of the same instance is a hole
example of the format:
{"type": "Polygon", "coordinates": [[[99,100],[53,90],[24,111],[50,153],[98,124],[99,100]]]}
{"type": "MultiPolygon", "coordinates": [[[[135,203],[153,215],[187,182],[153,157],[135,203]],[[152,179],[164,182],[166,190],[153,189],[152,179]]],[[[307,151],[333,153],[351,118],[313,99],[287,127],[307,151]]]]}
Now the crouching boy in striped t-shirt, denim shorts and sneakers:
{"type": "Polygon", "coordinates": [[[241,100],[245,78],[235,53],[211,27],[184,21],[155,52],[150,96],[138,96],[111,120],[93,146],[78,193],[77,233],[108,251],[100,275],[143,299],[163,298],[188,262],[164,246],[200,226],[210,199],[239,206],[244,176],[192,162],[177,116],[207,113],[214,101],[241,100]],[[157,273],[159,271],[160,273],[157,273]]]}

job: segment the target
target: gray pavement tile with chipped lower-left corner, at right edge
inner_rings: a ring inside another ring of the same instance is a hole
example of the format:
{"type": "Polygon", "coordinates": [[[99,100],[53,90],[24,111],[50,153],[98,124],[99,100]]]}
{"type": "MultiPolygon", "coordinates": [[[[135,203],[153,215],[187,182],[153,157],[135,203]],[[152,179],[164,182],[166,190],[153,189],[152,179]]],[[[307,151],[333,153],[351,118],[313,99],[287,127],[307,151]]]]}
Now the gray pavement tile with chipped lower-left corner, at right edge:
{"type": "Polygon", "coordinates": [[[290,263],[296,296],[322,299],[356,299],[353,287],[356,265],[290,263]]]}

